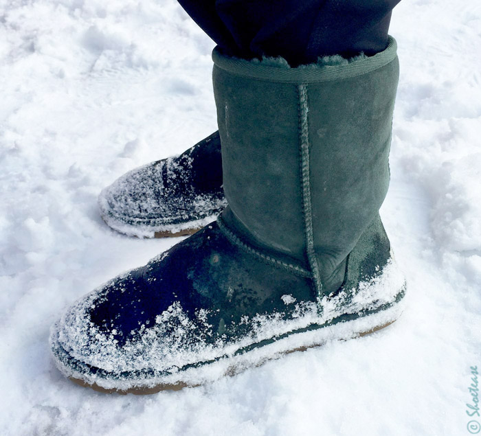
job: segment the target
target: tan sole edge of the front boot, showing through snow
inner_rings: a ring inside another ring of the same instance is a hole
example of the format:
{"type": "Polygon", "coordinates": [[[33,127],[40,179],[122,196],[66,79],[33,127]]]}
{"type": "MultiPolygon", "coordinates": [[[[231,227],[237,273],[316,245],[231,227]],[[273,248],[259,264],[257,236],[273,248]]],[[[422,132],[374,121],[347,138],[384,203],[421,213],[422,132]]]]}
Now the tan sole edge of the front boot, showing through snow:
{"type": "MultiPolygon", "coordinates": [[[[396,321],[396,320],[394,320],[394,321],[396,321]]],[[[359,338],[359,337],[362,337],[362,336],[366,336],[368,334],[378,332],[379,330],[382,330],[383,328],[386,328],[389,325],[391,325],[392,323],[394,323],[394,321],[390,321],[390,322],[385,323],[383,325],[379,325],[379,326],[377,326],[375,328],[372,328],[371,330],[368,330],[366,332],[357,333],[355,336],[352,336],[348,339],[355,339],[355,338],[359,338]]],[[[344,339],[344,341],[347,341],[348,339],[344,339]]],[[[325,343],[326,342],[313,344],[313,345],[309,345],[309,346],[293,348],[293,349],[290,349],[290,350],[287,350],[287,351],[283,352],[280,356],[286,356],[287,354],[291,354],[291,353],[295,353],[295,352],[305,352],[305,351],[307,351],[308,349],[311,349],[311,348],[322,347],[322,345],[324,345],[325,343]]],[[[277,359],[280,356],[276,355],[275,357],[267,358],[265,360],[262,360],[261,363],[259,363],[258,365],[255,365],[255,366],[259,367],[262,364],[268,362],[269,360],[277,359]]],[[[225,372],[224,376],[235,376],[236,374],[239,374],[240,372],[242,372],[245,369],[246,368],[237,369],[236,367],[230,367],[225,372]]],[[[79,385],[81,387],[88,387],[88,388],[93,389],[94,391],[97,391],[97,392],[118,393],[120,395],[126,395],[128,393],[133,393],[134,395],[150,395],[150,394],[158,393],[158,392],[161,392],[161,391],[180,391],[181,389],[186,388],[186,387],[198,387],[198,386],[200,386],[200,385],[188,385],[185,382],[178,382],[178,383],[173,383],[173,384],[156,385],[154,387],[149,387],[149,388],[133,387],[131,389],[127,389],[126,391],[120,391],[118,389],[105,389],[104,387],[101,387],[101,386],[97,385],[96,383],[93,383],[92,385],[89,385],[89,383],[85,382],[84,380],[80,380],[79,378],[69,377],[69,380],[76,383],[76,385],[79,385]]]]}

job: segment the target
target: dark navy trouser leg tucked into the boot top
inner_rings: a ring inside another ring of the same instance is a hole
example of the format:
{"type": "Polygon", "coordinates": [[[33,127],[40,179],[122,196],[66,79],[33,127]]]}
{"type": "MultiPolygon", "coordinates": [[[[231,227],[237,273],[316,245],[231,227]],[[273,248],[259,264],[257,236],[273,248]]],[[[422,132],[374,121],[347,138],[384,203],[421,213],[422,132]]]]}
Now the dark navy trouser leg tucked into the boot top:
{"type": "Polygon", "coordinates": [[[291,66],[319,56],[385,49],[401,0],[179,0],[216,42],[243,58],[282,56],[291,66]]]}

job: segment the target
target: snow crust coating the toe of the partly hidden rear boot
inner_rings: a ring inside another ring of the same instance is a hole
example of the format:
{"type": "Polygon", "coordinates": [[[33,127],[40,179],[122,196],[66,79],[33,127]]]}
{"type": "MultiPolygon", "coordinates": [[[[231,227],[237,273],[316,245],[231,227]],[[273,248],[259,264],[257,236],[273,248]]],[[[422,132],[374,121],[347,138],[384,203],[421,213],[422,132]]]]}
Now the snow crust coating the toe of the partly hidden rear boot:
{"type": "Polygon", "coordinates": [[[201,229],[227,205],[216,194],[192,192],[192,157],[148,163],[121,176],[98,197],[103,220],[128,236],[153,238],[155,232],[201,229]],[[181,188],[179,188],[179,186],[181,188]]]}

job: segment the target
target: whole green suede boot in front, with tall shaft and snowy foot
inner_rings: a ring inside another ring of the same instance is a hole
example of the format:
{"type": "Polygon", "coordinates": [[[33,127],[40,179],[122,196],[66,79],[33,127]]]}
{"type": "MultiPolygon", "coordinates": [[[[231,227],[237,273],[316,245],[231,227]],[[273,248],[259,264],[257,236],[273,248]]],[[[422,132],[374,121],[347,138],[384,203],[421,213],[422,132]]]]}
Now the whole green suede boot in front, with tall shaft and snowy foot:
{"type": "Polygon", "coordinates": [[[216,222],[69,308],[50,343],[65,376],[150,393],[379,330],[403,275],[379,218],[396,43],[289,68],[214,50],[229,206],[216,222]]]}

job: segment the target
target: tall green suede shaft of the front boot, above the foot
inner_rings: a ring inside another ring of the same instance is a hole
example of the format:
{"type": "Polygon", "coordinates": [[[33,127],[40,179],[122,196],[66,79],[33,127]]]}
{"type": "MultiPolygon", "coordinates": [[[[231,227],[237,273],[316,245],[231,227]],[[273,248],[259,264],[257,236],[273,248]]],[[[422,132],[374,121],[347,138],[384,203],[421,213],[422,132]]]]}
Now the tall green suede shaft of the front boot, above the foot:
{"type": "Polygon", "coordinates": [[[394,39],[380,54],[340,65],[289,68],[215,50],[213,58],[223,219],[335,288],[388,190],[394,39]]]}

